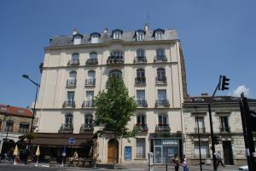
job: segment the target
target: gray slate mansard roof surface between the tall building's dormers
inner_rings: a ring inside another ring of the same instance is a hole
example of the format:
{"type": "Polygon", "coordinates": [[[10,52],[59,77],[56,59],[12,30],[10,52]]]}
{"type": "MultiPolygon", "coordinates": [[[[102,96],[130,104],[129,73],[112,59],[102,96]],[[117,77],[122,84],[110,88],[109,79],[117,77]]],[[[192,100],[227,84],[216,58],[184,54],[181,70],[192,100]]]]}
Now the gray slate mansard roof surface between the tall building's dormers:
{"type": "MultiPolygon", "coordinates": [[[[154,41],[153,37],[154,31],[146,31],[144,41],[154,41]]],[[[108,41],[112,40],[111,37],[112,32],[108,31],[107,33],[102,33],[98,43],[108,43],[108,41]]],[[[124,42],[136,42],[136,37],[134,35],[136,31],[123,31],[122,37],[119,38],[124,42]]],[[[81,44],[90,44],[90,34],[82,34],[84,37],[82,38],[81,44]]],[[[177,39],[177,31],[172,29],[165,30],[162,40],[176,40],[177,39]]],[[[70,36],[58,36],[53,37],[49,43],[49,47],[56,46],[67,46],[73,45],[73,35],[70,36]]]]}

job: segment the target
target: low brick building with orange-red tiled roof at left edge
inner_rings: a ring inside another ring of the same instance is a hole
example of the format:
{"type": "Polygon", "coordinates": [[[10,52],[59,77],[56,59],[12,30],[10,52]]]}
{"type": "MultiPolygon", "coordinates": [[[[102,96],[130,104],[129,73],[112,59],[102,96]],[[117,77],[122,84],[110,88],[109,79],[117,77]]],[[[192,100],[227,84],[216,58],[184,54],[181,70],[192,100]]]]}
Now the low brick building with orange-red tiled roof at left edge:
{"type": "Polygon", "coordinates": [[[0,105],[0,137],[3,140],[2,154],[14,149],[15,144],[20,140],[19,137],[29,133],[31,122],[32,111],[29,109],[0,105]]]}

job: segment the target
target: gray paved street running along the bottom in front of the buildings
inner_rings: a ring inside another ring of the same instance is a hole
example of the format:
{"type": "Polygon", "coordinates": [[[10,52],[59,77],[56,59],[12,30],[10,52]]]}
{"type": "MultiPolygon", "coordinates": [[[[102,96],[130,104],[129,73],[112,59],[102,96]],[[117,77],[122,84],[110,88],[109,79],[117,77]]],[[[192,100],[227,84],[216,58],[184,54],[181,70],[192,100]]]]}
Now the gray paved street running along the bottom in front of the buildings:
{"type": "MultiPolygon", "coordinates": [[[[218,168],[218,171],[236,171],[238,170],[238,166],[226,166],[225,168],[218,168]]],[[[12,165],[12,164],[0,164],[0,171],[25,171],[25,170],[42,170],[42,171],[73,171],[73,170],[101,170],[101,171],[113,171],[113,169],[109,168],[62,168],[61,166],[49,167],[47,164],[40,164],[39,167],[35,167],[33,164],[24,165],[12,165]]],[[[123,169],[116,169],[116,170],[123,170],[123,171],[146,171],[147,167],[145,165],[126,165],[123,169]]],[[[168,166],[167,171],[174,170],[173,166],[168,166]]],[[[183,171],[183,168],[179,168],[180,171],[183,171]]],[[[199,166],[190,166],[189,171],[199,171],[199,166]]],[[[203,170],[211,171],[212,166],[203,166],[203,170]]],[[[154,166],[154,171],[166,171],[166,166],[158,165],[154,166]]]]}

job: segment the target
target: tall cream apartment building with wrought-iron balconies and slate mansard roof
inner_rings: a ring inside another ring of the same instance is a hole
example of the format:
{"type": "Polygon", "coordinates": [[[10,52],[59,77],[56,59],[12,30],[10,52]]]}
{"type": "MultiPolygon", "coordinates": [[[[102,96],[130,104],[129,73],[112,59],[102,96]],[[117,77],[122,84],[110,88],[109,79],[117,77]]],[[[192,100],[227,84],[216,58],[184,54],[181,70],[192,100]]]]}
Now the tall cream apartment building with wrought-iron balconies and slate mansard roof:
{"type": "MultiPolygon", "coordinates": [[[[108,77],[124,80],[129,95],[137,100],[129,128],[143,131],[116,143],[119,163],[146,162],[154,151],[154,163],[171,162],[183,151],[183,96],[187,95],[185,67],[177,31],[148,26],[143,30],[115,29],[102,33],[58,36],[45,48],[37,103],[38,138],[42,157],[67,156],[78,151],[88,157],[93,133],[93,98],[106,89],[108,77]],[[75,143],[68,144],[69,138],[75,143]]],[[[112,163],[112,134],[96,140],[97,161],[112,163]]]]}

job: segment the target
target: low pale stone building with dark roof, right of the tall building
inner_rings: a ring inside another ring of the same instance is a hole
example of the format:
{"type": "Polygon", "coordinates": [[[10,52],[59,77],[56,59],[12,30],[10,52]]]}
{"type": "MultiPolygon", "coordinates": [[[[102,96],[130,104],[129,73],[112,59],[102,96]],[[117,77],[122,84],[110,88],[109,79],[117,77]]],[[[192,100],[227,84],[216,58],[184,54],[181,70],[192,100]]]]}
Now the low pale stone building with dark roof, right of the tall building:
{"type": "MultiPolygon", "coordinates": [[[[247,163],[240,101],[241,98],[238,97],[218,96],[212,98],[207,94],[184,99],[184,151],[192,164],[199,162],[199,136],[202,162],[210,163],[212,160],[209,103],[212,104],[213,132],[220,139],[219,144],[215,145],[215,151],[220,151],[225,164],[242,165],[247,163]]],[[[250,110],[255,111],[256,100],[248,100],[248,103],[250,110]]]]}

